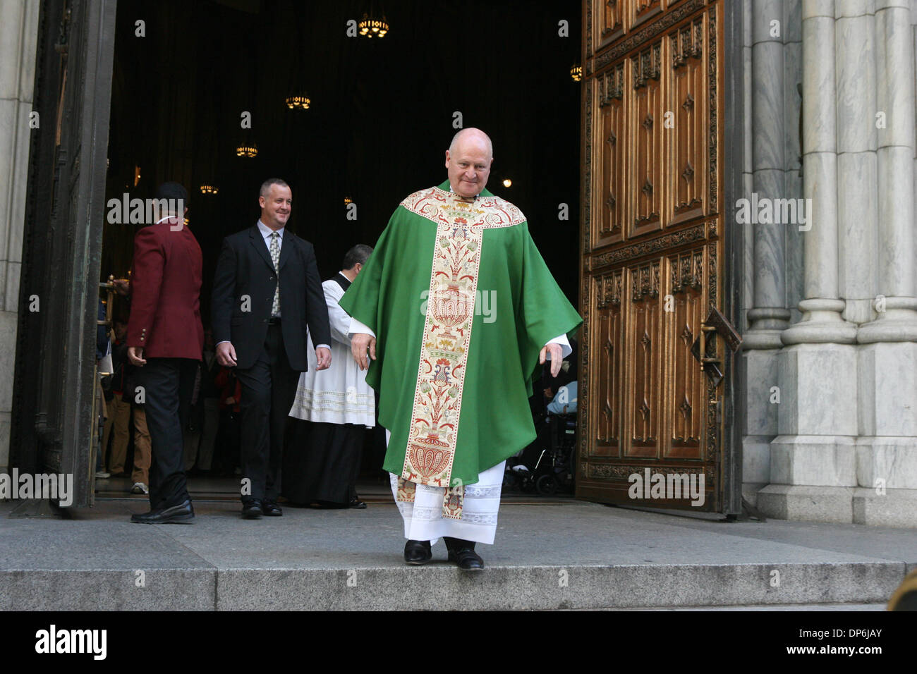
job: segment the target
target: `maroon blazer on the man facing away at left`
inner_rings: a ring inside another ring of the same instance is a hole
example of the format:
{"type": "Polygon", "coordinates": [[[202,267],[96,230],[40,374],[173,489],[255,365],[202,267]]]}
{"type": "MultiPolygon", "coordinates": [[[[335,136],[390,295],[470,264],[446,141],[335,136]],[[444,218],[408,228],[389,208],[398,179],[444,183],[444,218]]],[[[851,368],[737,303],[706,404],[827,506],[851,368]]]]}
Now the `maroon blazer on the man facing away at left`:
{"type": "Polygon", "coordinates": [[[170,222],[143,227],[134,237],[127,346],[143,347],[145,359],[200,360],[201,247],[191,229],[172,231],[170,222]]]}

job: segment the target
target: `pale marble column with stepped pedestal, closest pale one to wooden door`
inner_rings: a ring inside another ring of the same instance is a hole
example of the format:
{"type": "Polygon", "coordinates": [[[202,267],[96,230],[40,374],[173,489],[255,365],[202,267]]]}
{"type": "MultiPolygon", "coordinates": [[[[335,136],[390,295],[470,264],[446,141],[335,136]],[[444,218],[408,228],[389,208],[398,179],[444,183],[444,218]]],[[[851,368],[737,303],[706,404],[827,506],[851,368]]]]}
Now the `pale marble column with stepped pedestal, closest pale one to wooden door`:
{"type": "Polygon", "coordinates": [[[770,484],[757,493],[757,505],[774,517],[850,522],[856,325],[842,318],[839,293],[834,10],[832,0],[802,0],[802,197],[810,227],[802,233],[804,298],[801,321],[780,336],[779,435],[770,443],[770,484]]]}

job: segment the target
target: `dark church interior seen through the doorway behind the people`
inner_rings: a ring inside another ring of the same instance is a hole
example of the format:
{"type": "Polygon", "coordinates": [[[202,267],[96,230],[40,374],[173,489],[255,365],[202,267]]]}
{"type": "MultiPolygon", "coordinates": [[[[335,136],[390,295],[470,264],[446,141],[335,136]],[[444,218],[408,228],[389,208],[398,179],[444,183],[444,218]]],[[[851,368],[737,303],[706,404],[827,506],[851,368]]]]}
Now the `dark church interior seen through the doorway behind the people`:
{"type": "MultiPolygon", "coordinates": [[[[522,209],[576,305],[579,60],[572,0],[120,0],[105,199],[182,182],[204,253],[207,326],[222,238],[255,224],[262,181],[291,185],[289,227],[315,245],[327,279],[348,249],[375,243],[405,196],[446,180],[460,116],[491,136],[488,189],[522,209]],[[384,17],[388,33],[348,36],[364,14],[384,17]],[[292,96],[308,97],[308,109],[290,107],[292,96]],[[238,156],[243,145],[257,155],[238,156]]],[[[102,281],[127,276],[138,227],[106,222],[102,281]]],[[[381,466],[370,435],[364,479],[381,466]]]]}

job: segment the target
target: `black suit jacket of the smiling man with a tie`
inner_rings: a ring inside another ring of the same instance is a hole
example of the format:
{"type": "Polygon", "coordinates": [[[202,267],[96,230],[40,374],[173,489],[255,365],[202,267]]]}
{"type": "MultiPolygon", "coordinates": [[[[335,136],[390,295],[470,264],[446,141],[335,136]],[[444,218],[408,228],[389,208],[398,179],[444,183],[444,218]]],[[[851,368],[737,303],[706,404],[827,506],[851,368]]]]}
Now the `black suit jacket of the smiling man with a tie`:
{"type": "MultiPolygon", "coordinates": [[[[331,344],[315,249],[305,239],[284,229],[278,267],[283,345],[293,370],[304,372],[306,328],[312,334],[313,346],[331,344]]],[[[271,253],[257,225],[223,239],[214,277],[214,338],[217,344],[232,342],[241,370],[254,365],[264,347],[276,287],[271,253]],[[245,308],[249,311],[244,311],[245,308]]]]}

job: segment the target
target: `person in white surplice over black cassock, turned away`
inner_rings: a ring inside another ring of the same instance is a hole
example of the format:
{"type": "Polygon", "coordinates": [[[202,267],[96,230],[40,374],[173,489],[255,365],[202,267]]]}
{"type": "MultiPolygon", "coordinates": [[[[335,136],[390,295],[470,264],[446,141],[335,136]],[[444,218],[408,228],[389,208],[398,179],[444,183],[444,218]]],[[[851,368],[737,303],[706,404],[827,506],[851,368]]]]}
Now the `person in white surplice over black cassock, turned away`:
{"type": "Polygon", "coordinates": [[[322,283],[331,323],[331,367],[318,370],[306,342],[309,369],[299,378],[284,452],[283,495],[290,503],[326,508],[365,508],[356,490],[364,429],[376,425],[375,394],[366,371],[350,357],[350,316],[337,302],[357,278],[372,249],[359,244],[344,256],[343,269],[322,283]]]}

